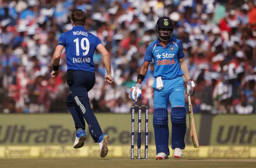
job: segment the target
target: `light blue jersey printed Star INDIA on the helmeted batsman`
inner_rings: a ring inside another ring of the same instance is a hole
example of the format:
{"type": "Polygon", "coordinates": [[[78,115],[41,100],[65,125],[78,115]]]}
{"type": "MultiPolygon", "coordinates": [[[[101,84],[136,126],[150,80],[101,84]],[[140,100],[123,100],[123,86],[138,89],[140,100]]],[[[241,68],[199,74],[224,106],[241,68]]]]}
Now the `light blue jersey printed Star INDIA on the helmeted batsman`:
{"type": "Polygon", "coordinates": [[[184,57],[182,42],[172,37],[166,47],[159,44],[159,40],[148,45],[144,61],[154,59],[154,77],[173,79],[183,75],[179,59],[184,57]]]}

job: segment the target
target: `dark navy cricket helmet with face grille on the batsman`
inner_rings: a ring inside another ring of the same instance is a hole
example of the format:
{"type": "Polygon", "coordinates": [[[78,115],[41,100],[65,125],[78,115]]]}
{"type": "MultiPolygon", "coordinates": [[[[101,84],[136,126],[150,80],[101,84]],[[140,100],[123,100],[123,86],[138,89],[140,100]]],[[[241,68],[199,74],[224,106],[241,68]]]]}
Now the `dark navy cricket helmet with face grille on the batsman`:
{"type": "Polygon", "coordinates": [[[160,17],[156,22],[156,33],[158,38],[169,41],[173,35],[172,20],[168,17],[160,17]],[[162,29],[162,30],[161,30],[162,29]]]}

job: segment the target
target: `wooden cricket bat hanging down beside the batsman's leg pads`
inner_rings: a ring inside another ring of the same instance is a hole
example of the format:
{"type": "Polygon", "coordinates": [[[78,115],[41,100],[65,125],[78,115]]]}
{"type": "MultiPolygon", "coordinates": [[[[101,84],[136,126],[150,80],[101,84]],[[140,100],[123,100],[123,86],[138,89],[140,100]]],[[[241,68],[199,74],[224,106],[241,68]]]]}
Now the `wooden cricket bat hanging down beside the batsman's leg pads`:
{"type": "Polygon", "coordinates": [[[194,147],[198,148],[199,144],[198,144],[198,139],[197,139],[197,135],[196,135],[196,126],[195,126],[193,108],[192,108],[190,96],[188,96],[188,110],[189,110],[188,114],[189,114],[190,136],[191,136],[192,142],[194,144],[194,147]]]}

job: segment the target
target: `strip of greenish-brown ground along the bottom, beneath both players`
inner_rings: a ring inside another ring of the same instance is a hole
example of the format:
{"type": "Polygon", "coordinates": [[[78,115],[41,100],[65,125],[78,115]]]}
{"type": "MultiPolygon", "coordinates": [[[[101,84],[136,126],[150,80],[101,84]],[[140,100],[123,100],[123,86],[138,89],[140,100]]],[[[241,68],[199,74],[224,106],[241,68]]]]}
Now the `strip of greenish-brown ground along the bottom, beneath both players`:
{"type": "Polygon", "coordinates": [[[255,159],[0,159],[0,168],[256,168],[255,159]]]}

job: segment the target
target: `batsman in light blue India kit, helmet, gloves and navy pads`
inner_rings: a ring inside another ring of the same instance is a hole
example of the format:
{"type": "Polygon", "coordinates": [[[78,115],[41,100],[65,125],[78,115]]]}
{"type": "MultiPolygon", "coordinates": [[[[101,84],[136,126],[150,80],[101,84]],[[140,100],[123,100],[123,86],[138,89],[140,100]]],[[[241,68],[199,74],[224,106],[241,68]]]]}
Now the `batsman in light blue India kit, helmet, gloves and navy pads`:
{"type": "Polygon", "coordinates": [[[141,97],[140,85],[148,71],[148,66],[154,60],[154,115],[153,126],[156,143],[156,159],[168,159],[170,150],[168,127],[168,101],[172,105],[172,150],[175,158],[182,158],[185,148],[186,110],[184,82],[186,79],[186,94],[192,95],[195,85],[188,73],[184,59],[182,42],[174,37],[172,20],[161,17],[156,23],[158,38],[148,45],[144,62],[138,74],[137,84],[130,92],[131,99],[137,101],[141,97]]]}

